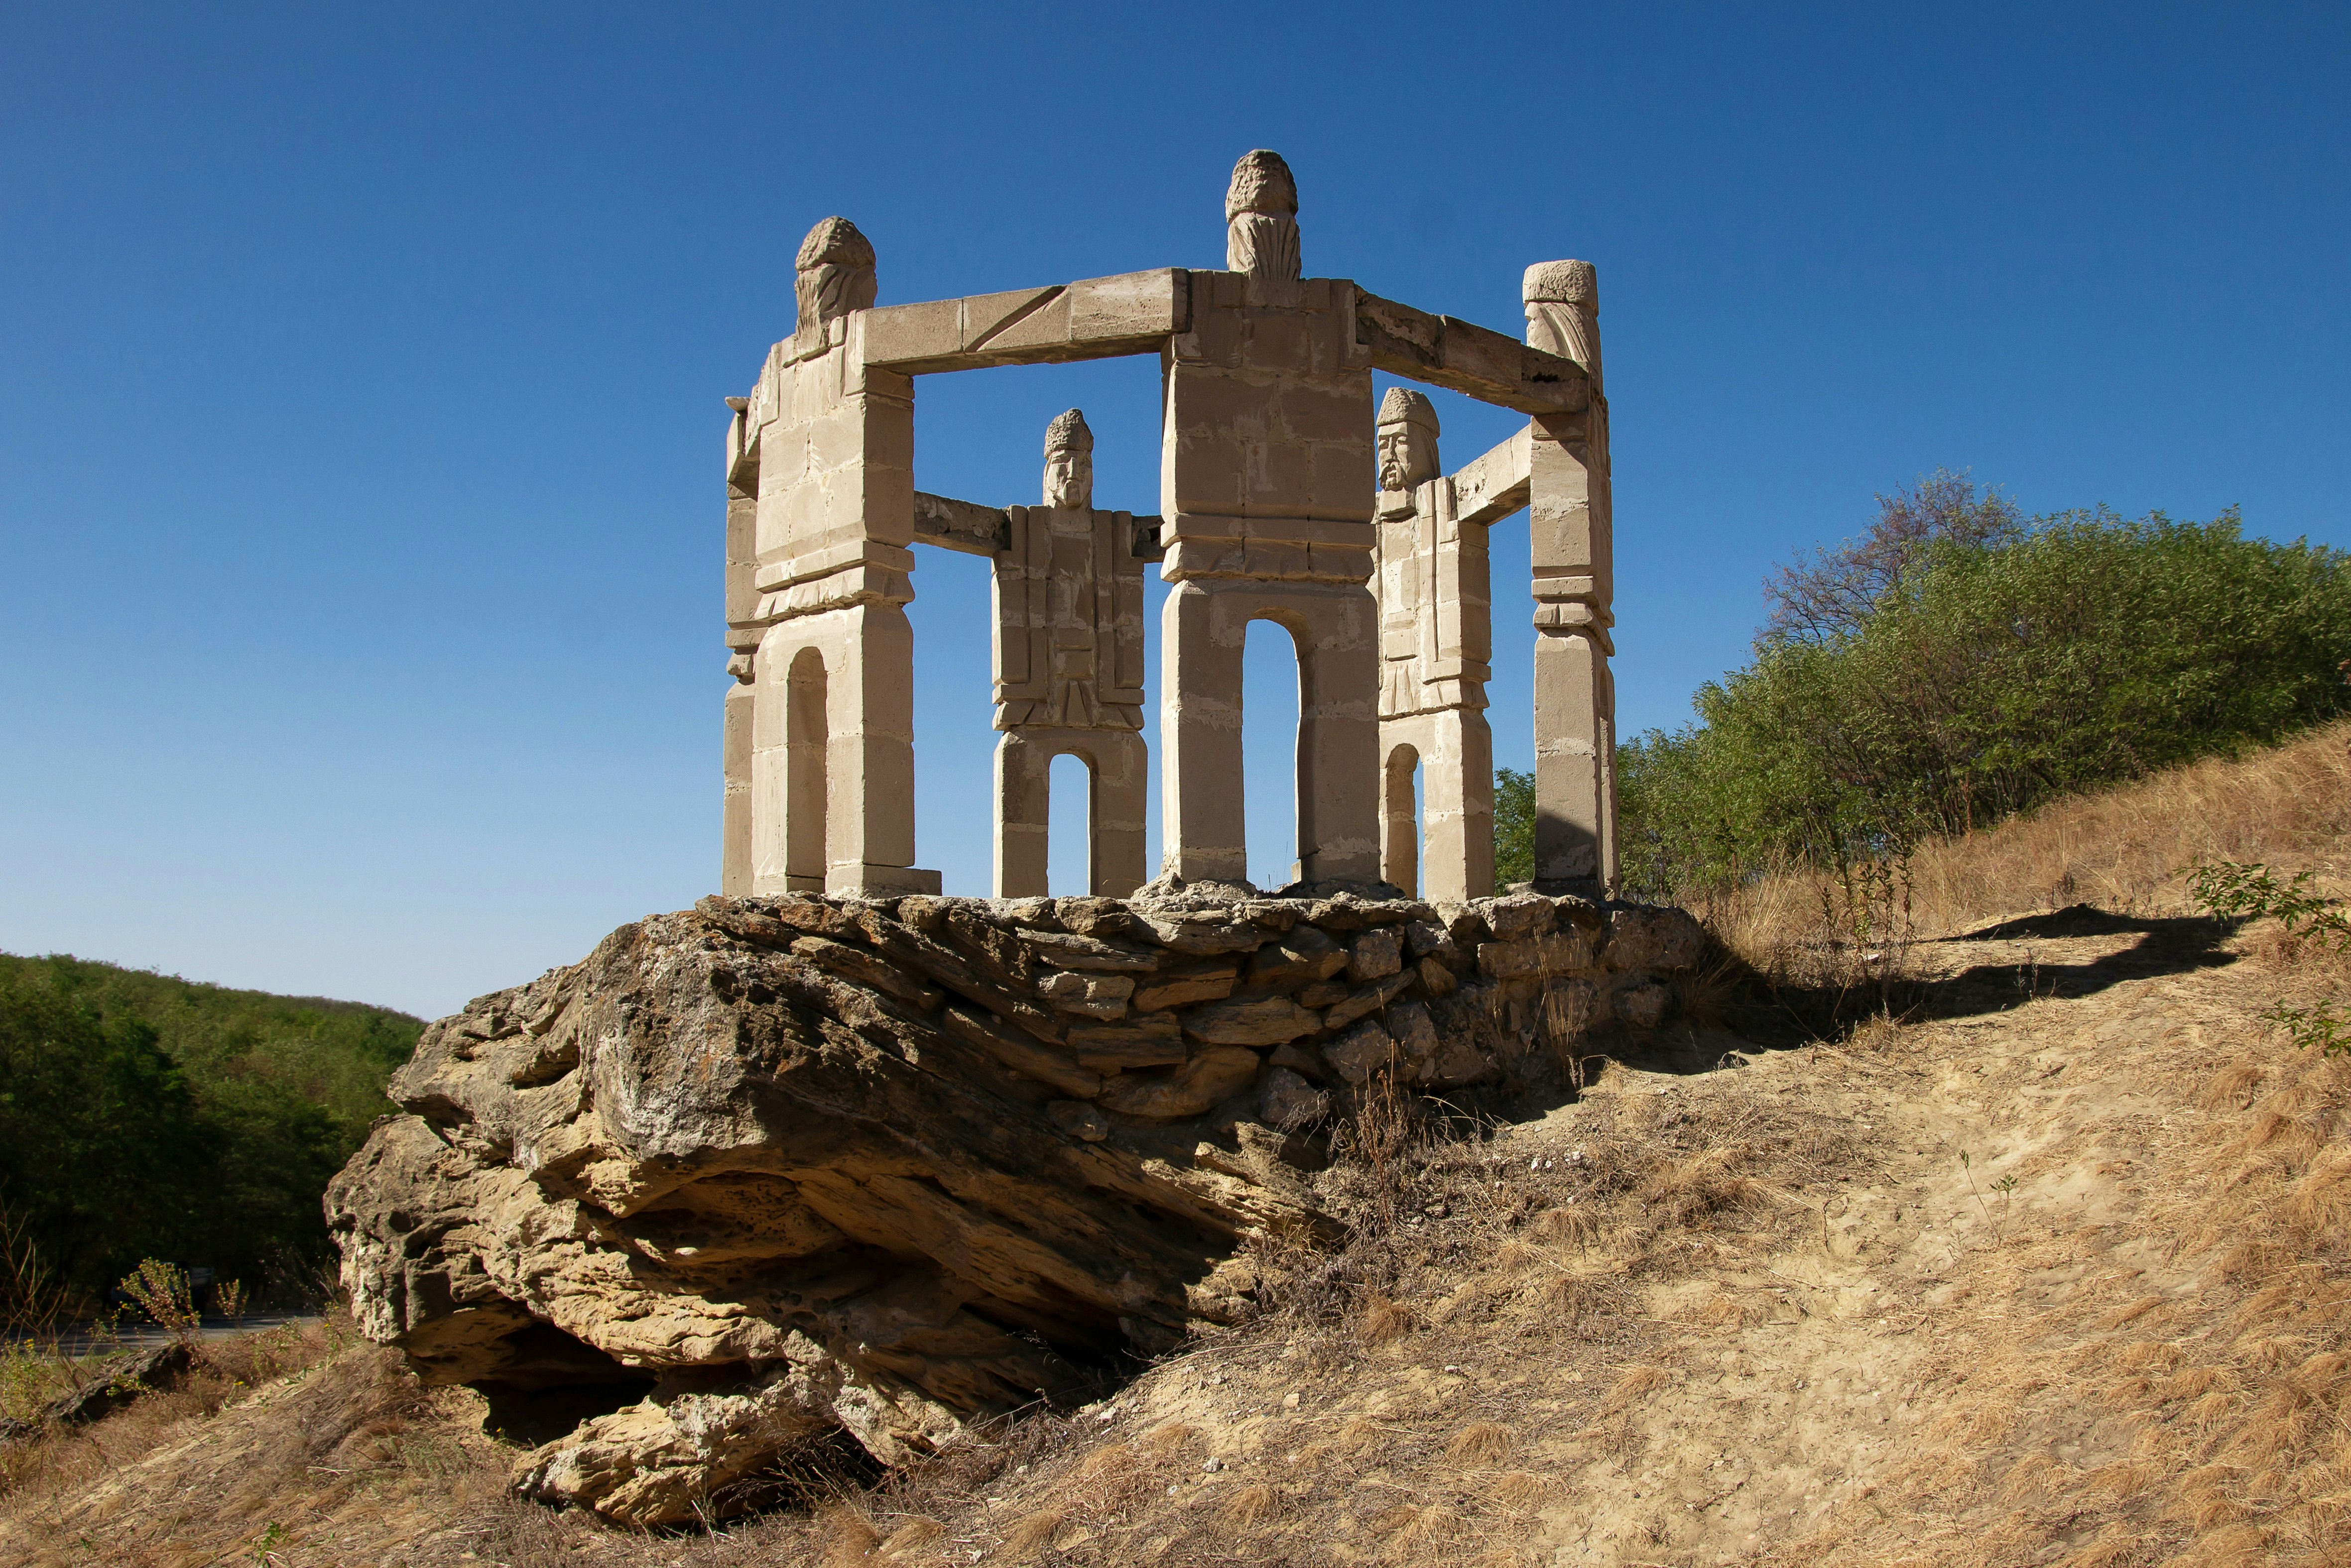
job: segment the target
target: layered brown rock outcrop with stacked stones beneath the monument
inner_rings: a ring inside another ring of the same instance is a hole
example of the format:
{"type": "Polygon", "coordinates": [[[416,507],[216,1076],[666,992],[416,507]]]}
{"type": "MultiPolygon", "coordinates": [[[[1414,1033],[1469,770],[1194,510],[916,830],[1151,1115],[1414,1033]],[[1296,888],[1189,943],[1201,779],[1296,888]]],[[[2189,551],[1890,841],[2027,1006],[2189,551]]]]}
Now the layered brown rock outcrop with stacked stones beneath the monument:
{"type": "Polygon", "coordinates": [[[480,997],[327,1192],[362,1331],[630,1523],[837,1432],[898,1465],[1244,1312],[1375,1077],[1523,1088],[1702,954],[1580,898],[1147,893],[705,898],[480,997]]]}

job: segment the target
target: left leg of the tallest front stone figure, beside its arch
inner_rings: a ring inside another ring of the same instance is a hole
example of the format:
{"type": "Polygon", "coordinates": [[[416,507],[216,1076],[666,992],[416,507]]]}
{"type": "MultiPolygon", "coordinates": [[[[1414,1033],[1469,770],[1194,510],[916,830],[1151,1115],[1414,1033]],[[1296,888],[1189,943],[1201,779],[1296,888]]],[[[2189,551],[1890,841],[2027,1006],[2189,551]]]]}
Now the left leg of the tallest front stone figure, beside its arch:
{"type": "Polygon", "coordinates": [[[1208,583],[1176,583],[1159,614],[1161,872],[1246,882],[1241,637],[1248,614],[1208,583]]]}

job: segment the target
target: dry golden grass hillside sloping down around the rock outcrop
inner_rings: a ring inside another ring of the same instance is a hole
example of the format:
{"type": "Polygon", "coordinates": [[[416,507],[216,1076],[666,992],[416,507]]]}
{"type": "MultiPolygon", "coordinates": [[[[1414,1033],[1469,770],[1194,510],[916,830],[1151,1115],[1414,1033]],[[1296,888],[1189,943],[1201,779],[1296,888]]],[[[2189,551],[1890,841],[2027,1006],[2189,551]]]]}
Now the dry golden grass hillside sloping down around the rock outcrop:
{"type": "Polygon", "coordinates": [[[2351,1561],[2351,1063],[2262,1018],[2351,966],[2182,882],[2342,891],[2346,743],[1709,910],[1761,999],[1540,1121],[1385,1107],[1255,1324],[924,1472],[621,1535],[313,1335],[7,1450],[0,1563],[2351,1561]]]}

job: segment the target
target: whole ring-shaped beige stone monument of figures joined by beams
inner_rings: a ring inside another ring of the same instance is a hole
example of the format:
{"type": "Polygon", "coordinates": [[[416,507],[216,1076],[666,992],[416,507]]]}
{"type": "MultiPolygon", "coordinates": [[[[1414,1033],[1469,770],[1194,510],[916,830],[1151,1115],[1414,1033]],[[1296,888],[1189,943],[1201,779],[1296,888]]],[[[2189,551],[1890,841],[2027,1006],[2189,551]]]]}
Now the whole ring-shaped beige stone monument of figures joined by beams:
{"type": "Polygon", "coordinates": [[[1521,346],[1305,277],[1298,186],[1274,153],[1234,167],[1225,223],[1220,273],[915,306],[872,303],[872,247],[851,223],[811,230],[802,322],[752,395],[729,400],[724,891],[936,889],[915,867],[915,543],[994,562],[999,893],[1044,889],[1044,769],[1065,752],[1093,778],[1089,886],[1131,891],[1140,877],[1140,635],[1126,604],[1140,607],[1145,559],[1173,585],[1159,649],[1164,877],[1246,879],[1241,642],[1248,623],[1272,621],[1300,663],[1295,877],[1373,886],[1396,872],[1444,898],[1491,891],[1483,529],[1516,508],[1531,510],[1542,632],[1538,882],[1608,882],[1608,468],[1592,268],[1528,273],[1521,346]],[[1161,360],[1161,517],[1096,512],[1091,498],[987,508],[915,494],[917,376],[1138,353],[1161,360]],[[1531,428],[1446,477],[1429,414],[1427,473],[1382,494],[1373,371],[1519,409],[1531,428]],[[1408,790],[1415,762],[1425,875],[1396,856],[1411,839],[1396,776],[1408,790]]]}

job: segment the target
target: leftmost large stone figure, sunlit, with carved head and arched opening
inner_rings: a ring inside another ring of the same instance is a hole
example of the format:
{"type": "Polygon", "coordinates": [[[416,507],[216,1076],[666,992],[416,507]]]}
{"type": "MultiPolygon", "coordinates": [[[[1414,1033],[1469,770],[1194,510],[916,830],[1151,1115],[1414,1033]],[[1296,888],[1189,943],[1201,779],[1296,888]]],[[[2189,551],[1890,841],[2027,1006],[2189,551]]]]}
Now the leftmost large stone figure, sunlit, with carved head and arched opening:
{"type": "Polygon", "coordinates": [[[915,867],[915,383],[851,331],[875,252],[849,219],[809,230],[795,299],[729,400],[722,886],[936,893],[915,867]]]}

